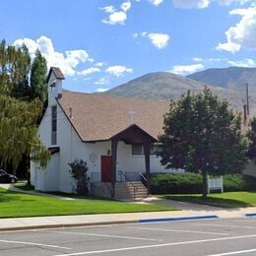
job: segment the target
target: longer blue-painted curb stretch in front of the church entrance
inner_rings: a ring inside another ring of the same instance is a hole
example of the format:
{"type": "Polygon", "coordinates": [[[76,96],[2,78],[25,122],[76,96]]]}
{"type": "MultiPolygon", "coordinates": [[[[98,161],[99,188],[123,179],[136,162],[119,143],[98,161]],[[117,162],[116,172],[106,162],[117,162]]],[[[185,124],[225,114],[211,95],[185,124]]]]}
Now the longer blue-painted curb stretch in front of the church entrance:
{"type": "Polygon", "coordinates": [[[220,217],[217,216],[217,215],[205,215],[205,216],[188,216],[188,217],[142,219],[142,220],[139,220],[139,224],[160,223],[160,222],[176,222],[176,221],[189,221],[189,220],[207,220],[207,219],[218,219],[218,218],[220,218],[220,217]]]}

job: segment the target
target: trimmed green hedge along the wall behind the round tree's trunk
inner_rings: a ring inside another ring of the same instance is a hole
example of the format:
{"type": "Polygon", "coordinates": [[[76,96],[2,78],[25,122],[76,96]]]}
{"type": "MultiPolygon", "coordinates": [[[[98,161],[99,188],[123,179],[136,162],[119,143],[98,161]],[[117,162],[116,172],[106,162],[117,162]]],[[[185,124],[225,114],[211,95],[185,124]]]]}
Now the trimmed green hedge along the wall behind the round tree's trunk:
{"type": "MultiPolygon", "coordinates": [[[[151,176],[152,194],[202,193],[203,180],[200,173],[155,173],[151,176]]],[[[242,174],[224,175],[224,192],[256,191],[256,178],[242,174]]]]}

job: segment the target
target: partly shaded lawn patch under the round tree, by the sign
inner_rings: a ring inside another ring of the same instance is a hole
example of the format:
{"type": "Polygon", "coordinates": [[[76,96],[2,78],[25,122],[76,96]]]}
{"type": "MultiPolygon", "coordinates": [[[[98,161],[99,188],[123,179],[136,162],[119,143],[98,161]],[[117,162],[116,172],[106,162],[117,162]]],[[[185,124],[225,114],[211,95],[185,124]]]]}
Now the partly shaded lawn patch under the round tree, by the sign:
{"type": "Polygon", "coordinates": [[[224,208],[256,206],[256,191],[215,193],[208,195],[206,199],[202,198],[201,194],[160,195],[159,197],[224,208]]]}

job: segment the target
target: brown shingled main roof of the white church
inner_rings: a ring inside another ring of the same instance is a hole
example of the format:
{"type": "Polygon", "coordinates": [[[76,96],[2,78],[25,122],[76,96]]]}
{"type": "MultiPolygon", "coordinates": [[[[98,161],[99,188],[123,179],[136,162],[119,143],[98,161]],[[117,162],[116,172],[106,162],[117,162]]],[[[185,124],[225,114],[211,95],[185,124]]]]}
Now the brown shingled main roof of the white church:
{"type": "Polygon", "coordinates": [[[163,114],[169,102],[118,96],[64,92],[58,102],[85,142],[107,141],[131,123],[154,138],[162,132],[163,114]]]}

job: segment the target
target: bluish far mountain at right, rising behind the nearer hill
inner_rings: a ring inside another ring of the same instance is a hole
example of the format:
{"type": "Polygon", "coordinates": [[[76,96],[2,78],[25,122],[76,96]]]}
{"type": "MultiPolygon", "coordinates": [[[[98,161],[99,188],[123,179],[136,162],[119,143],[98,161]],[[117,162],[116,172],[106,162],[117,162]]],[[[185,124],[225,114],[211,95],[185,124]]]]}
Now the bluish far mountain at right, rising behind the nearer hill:
{"type": "Polygon", "coordinates": [[[212,86],[235,91],[244,91],[249,84],[250,91],[256,92],[256,68],[215,68],[207,69],[187,76],[187,78],[212,86]]]}

